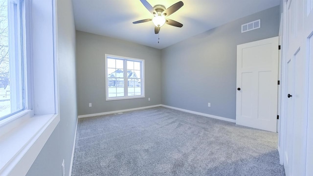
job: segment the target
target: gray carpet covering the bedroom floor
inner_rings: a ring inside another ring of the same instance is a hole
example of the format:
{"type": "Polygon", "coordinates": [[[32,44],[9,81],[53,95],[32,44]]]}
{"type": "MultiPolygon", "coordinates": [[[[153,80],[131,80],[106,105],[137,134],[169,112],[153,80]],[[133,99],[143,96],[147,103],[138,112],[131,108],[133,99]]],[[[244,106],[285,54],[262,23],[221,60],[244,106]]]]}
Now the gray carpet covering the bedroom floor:
{"type": "Polygon", "coordinates": [[[72,176],[285,176],[277,138],[163,107],[81,118],[72,176]]]}

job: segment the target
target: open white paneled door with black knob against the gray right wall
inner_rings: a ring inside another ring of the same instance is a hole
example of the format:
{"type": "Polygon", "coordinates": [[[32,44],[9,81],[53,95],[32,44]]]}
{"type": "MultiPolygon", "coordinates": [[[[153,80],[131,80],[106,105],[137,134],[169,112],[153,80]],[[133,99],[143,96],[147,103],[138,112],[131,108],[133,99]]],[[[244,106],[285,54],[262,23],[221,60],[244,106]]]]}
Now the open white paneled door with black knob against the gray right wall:
{"type": "Polygon", "coordinates": [[[238,125],[276,132],[278,39],[237,45],[238,125]]]}

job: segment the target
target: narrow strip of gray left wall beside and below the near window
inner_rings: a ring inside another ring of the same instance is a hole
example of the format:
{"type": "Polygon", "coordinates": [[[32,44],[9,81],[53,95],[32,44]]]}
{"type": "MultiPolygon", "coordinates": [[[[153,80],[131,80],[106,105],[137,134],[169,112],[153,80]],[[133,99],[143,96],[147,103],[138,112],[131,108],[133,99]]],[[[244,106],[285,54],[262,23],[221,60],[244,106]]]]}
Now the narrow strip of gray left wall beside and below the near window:
{"type": "Polygon", "coordinates": [[[69,175],[77,122],[75,25],[71,0],[57,1],[58,13],[58,86],[60,122],[37,156],[27,176],[62,176],[65,159],[69,175]]]}

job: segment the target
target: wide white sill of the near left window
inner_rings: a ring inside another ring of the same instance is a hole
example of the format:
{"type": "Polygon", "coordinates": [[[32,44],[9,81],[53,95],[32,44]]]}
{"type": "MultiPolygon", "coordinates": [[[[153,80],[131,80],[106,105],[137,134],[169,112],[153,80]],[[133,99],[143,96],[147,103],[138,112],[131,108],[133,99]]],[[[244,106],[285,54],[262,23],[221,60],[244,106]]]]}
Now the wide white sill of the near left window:
{"type": "Polygon", "coordinates": [[[59,121],[59,114],[45,114],[22,116],[2,124],[0,175],[26,175],[59,121]]]}

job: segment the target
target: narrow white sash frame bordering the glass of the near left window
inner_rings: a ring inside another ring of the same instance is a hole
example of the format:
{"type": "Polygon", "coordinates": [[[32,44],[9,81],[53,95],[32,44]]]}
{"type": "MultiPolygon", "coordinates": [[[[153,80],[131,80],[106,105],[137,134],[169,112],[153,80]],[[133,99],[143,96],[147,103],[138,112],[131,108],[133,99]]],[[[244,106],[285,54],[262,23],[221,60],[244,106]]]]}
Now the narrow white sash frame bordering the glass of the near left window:
{"type": "Polygon", "coordinates": [[[8,0],[8,28],[11,29],[8,35],[9,47],[9,72],[10,72],[10,104],[11,113],[0,118],[0,125],[10,121],[14,118],[14,114],[17,114],[25,110],[26,102],[26,85],[24,79],[24,70],[26,63],[24,62],[24,30],[22,29],[22,4],[21,0],[8,0]],[[17,9],[15,9],[15,5],[17,9]],[[12,47],[13,46],[13,47],[12,47]],[[22,82],[22,85],[20,85],[22,82]],[[21,95],[22,94],[22,95],[21,95]],[[15,96],[16,95],[16,96],[15,96]],[[21,96],[20,96],[21,95],[21,96]],[[13,98],[12,98],[13,97],[13,98]],[[19,98],[16,98],[19,97],[19,98]]]}

